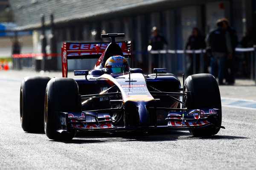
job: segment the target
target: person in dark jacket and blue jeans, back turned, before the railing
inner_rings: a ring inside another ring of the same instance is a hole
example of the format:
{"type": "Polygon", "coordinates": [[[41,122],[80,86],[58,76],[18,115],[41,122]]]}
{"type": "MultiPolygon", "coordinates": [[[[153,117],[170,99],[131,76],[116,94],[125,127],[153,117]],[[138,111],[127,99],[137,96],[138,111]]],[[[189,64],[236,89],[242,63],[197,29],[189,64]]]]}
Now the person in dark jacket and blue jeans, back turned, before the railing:
{"type": "MultiPolygon", "coordinates": [[[[211,74],[216,77],[218,67],[218,83],[224,85],[225,62],[232,57],[230,34],[224,29],[224,22],[217,20],[216,28],[209,31],[206,37],[207,45],[211,47],[211,74]]],[[[226,80],[227,82],[227,80],[226,80]]]]}

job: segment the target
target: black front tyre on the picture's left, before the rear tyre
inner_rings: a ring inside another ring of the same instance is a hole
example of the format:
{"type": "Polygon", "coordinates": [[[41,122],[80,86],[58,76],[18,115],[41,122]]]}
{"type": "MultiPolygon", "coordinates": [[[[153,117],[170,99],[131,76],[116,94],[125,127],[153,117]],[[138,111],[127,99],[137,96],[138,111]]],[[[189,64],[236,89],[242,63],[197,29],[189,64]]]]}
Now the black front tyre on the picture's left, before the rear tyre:
{"type": "Polygon", "coordinates": [[[53,78],[48,82],[44,100],[44,131],[49,139],[73,139],[76,130],[57,131],[56,112],[81,112],[79,101],[78,85],[74,79],[53,78]]]}

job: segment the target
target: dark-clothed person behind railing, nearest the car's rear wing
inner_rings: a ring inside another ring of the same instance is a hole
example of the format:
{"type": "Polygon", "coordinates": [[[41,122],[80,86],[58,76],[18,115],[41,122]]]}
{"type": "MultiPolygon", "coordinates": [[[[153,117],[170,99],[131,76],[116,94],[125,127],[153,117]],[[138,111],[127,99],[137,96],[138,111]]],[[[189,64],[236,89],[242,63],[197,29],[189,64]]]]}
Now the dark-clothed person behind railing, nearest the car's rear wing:
{"type": "MultiPolygon", "coordinates": [[[[159,34],[159,30],[157,29],[157,27],[153,27],[151,32],[153,33],[153,35],[148,40],[148,44],[151,45],[152,47],[151,50],[163,50],[164,48],[166,48],[167,41],[165,37],[163,37],[163,35],[159,34]]],[[[159,54],[154,54],[153,57],[154,57],[153,67],[159,67],[159,63],[158,63],[159,54]]]]}

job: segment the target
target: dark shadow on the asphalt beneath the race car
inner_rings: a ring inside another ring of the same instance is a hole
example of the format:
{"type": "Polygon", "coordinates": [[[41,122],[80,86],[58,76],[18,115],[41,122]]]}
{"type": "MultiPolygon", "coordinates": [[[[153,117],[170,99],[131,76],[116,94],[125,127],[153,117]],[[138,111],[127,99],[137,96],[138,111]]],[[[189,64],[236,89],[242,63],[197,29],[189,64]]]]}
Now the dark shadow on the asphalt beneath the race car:
{"type": "Polygon", "coordinates": [[[164,141],[177,141],[177,140],[221,140],[221,139],[249,139],[242,136],[192,136],[189,131],[177,130],[164,130],[164,131],[151,131],[151,132],[111,132],[111,133],[87,133],[78,132],[72,140],[67,141],[54,141],[63,142],[67,144],[90,144],[90,143],[108,143],[108,142],[164,142],[164,141]]]}

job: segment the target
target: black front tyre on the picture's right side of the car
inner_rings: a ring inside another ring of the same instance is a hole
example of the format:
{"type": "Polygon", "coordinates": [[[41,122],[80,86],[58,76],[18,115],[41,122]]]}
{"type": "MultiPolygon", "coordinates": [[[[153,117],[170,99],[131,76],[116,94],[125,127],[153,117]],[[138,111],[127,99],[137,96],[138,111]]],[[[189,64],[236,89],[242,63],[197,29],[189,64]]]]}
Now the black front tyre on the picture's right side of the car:
{"type": "Polygon", "coordinates": [[[188,109],[216,108],[220,110],[218,117],[210,121],[213,125],[205,128],[189,130],[194,136],[211,136],[218,133],[221,127],[221,96],[218,83],[212,74],[194,74],[189,76],[183,88],[188,109]]]}

